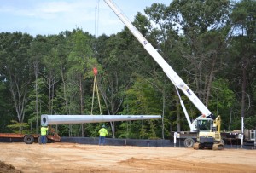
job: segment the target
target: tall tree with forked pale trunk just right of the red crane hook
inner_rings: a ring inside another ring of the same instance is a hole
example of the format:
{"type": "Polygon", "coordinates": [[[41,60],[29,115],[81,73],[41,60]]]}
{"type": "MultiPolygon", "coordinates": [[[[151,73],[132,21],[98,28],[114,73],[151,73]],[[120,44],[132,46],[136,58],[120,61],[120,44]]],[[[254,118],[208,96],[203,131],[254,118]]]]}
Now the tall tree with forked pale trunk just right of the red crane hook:
{"type": "MultiPolygon", "coordinates": [[[[102,75],[100,78],[100,90],[103,101],[109,115],[116,115],[124,101],[124,91],[131,84],[131,50],[127,49],[129,38],[128,31],[121,32],[110,37],[100,37],[104,52],[99,51],[102,63],[102,75]]],[[[115,137],[115,123],[111,122],[112,136],[115,137]]]]}

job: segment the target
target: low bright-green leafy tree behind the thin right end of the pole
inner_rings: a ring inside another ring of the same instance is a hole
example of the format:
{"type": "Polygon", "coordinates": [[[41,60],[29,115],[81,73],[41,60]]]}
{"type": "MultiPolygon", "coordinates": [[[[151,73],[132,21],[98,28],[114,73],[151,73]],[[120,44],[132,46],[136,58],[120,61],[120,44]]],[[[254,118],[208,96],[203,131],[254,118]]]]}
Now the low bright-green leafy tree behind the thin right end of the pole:
{"type": "MultiPolygon", "coordinates": [[[[160,104],[159,93],[156,92],[153,81],[150,78],[137,77],[136,82],[125,92],[125,109],[120,112],[122,114],[133,114],[133,115],[158,115],[162,111],[160,104]]],[[[143,121],[144,122],[144,121],[143,121]]],[[[142,123],[143,123],[142,122],[142,123]]],[[[126,123],[127,124],[127,123],[126,123]]],[[[132,123],[133,124],[133,123],[132,123]]],[[[137,126],[138,122],[134,123],[137,126]]],[[[156,138],[156,126],[157,121],[148,120],[145,121],[140,127],[140,138],[156,138]]],[[[132,128],[133,129],[133,128],[132,128]]],[[[136,132],[135,130],[134,132],[136,132]]],[[[124,136],[120,134],[119,136],[124,136]]]]}

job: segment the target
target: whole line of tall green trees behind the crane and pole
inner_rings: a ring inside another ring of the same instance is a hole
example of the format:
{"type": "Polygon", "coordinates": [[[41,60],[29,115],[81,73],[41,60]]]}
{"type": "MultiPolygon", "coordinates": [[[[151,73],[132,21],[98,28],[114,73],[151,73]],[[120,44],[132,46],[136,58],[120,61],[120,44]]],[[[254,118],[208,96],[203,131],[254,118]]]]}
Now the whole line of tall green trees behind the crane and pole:
{"type": "MultiPolygon", "coordinates": [[[[133,25],[215,115],[222,130],[256,126],[256,2],[173,0],[137,13],[133,25]]],[[[96,37],[81,28],[33,37],[0,33],[0,131],[38,133],[41,114],[160,114],[110,122],[119,138],[168,138],[189,130],[177,91],[131,32],[96,37]],[[98,101],[97,97],[94,101],[98,101]],[[91,110],[92,104],[93,111],[91,110]]],[[[199,112],[186,96],[191,119],[199,112]]],[[[58,125],[61,136],[97,136],[101,124],[58,125]]]]}

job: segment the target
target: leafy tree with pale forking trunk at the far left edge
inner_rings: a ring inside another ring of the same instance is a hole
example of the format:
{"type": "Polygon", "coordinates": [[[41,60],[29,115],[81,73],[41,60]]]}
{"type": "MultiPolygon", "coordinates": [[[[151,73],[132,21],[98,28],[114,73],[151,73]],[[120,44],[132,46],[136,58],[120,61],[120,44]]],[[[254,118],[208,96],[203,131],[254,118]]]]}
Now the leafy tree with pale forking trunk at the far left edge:
{"type": "Polygon", "coordinates": [[[19,131],[25,118],[27,94],[32,83],[32,60],[27,50],[32,36],[21,32],[1,34],[1,73],[5,75],[14,102],[19,131]]]}

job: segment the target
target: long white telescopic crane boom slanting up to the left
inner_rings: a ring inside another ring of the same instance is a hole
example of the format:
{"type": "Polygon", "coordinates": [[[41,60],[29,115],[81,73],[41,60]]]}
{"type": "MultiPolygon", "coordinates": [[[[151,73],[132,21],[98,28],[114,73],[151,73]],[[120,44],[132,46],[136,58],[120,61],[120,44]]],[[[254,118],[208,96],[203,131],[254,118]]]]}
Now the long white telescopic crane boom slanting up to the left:
{"type": "MultiPolygon", "coordinates": [[[[163,71],[166,73],[166,76],[172,81],[172,84],[174,84],[178,89],[181,89],[183,91],[184,95],[189,98],[189,100],[195,105],[195,107],[201,112],[202,115],[211,116],[212,113],[208,110],[208,108],[201,102],[201,100],[194,94],[194,92],[189,89],[189,86],[183,82],[183,79],[177,75],[172,67],[164,60],[164,58],[156,51],[156,49],[154,49],[151,43],[148,43],[148,40],[143,37],[141,32],[139,32],[137,28],[131,24],[131,21],[125,16],[125,14],[121,12],[117,5],[113,3],[112,0],[104,1],[125,24],[125,26],[129,28],[134,37],[136,37],[137,40],[143,45],[143,48],[148,51],[148,54],[154,58],[154,61],[156,61],[161,66],[163,71]]],[[[188,120],[188,117],[186,118],[188,120]]],[[[190,130],[192,130],[190,126],[190,120],[188,120],[188,122],[190,130]]]]}

